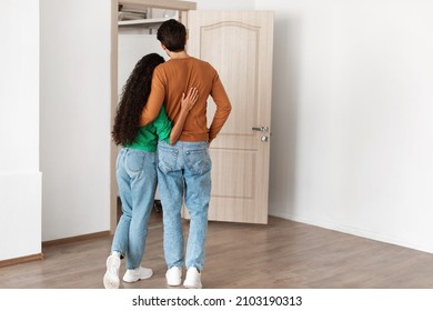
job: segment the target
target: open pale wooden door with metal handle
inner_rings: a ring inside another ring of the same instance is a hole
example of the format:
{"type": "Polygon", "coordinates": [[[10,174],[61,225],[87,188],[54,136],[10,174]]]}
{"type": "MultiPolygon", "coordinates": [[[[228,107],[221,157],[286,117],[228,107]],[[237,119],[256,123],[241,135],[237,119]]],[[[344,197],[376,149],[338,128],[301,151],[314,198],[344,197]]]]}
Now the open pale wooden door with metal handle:
{"type": "Polygon", "coordinates": [[[218,70],[232,102],[210,148],[209,220],[268,223],[273,12],[189,11],[188,31],[188,53],[218,70]]]}

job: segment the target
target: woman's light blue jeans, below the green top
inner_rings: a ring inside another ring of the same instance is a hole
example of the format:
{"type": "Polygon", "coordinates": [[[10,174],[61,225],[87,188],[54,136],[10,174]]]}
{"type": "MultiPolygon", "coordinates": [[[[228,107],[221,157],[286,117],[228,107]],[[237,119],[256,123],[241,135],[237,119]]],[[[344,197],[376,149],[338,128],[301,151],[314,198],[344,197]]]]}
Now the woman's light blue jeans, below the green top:
{"type": "Polygon", "coordinates": [[[140,267],[148,235],[148,221],[157,190],[157,152],[122,148],[115,163],[122,217],[111,251],[127,258],[127,269],[140,267]]]}

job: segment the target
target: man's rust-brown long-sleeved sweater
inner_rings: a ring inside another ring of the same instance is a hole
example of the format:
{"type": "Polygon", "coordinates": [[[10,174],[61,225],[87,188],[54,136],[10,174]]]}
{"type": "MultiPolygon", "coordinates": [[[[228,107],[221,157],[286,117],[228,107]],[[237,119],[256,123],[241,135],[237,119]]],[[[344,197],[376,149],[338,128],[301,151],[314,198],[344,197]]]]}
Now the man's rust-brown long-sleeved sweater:
{"type": "Polygon", "coordinates": [[[199,90],[199,99],[187,117],[181,141],[212,141],[220,132],[231,111],[231,103],[216,70],[208,62],[188,57],[170,59],[153,72],[152,90],[145,104],[140,126],[153,121],[162,103],[172,122],[178,120],[182,93],[190,88],[199,90]],[[212,123],[208,129],[207,104],[211,96],[216,104],[212,123]]]}

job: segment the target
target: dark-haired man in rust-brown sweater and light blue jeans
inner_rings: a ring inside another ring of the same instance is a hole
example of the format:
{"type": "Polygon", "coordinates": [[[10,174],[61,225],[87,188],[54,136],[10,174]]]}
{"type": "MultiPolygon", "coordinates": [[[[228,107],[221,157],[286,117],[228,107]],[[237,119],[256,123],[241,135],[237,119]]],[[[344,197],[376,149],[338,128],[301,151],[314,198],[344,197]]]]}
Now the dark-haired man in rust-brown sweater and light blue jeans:
{"type": "Polygon", "coordinates": [[[169,285],[180,285],[187,267],[185,288],[202,288],[208,208],[211,195],[211,159],[209,144],[229,118],[231,103],[216,70],[208,62],[190,57],[184,46],[185,27],[168,20],[158,29],[158,40],[170,60],[157,67],[152,90],[143,109],[141,126],[157,118],[162,103],[169,118],[177,122],[182,92],[199,90],[179,141],[174,146],[159,142],[158,182],[163,210],[165,273],[169,285]],[[207,124],[207,100],[216,104],[210,128],[207,124]],[[181,208],[183,200],[190,214],[187,253],[183,250],[181,208]]]}

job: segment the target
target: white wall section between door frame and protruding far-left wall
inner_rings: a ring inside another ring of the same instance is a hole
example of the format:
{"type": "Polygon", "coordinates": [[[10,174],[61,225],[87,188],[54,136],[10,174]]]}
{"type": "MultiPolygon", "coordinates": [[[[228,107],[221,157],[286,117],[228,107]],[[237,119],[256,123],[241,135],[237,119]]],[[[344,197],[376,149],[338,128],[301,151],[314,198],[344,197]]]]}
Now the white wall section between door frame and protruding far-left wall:
{"type": "Polygon", "coordinates": [[[111,1],[40,6],[47,241],[110,230],[111,1]]]}

